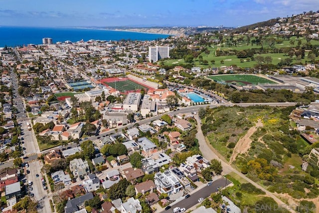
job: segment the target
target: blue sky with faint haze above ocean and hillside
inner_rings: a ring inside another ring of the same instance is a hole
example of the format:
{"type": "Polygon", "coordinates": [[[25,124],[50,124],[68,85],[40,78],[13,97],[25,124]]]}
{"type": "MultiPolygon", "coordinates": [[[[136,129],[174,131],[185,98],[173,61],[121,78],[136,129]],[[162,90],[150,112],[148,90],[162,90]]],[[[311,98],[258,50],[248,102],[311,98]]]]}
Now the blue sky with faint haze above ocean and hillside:
{"type": "Polygon", "coordinates": [[[310,10],[319,0],[0,0],[0,25],[236,27],[310,10]]]}

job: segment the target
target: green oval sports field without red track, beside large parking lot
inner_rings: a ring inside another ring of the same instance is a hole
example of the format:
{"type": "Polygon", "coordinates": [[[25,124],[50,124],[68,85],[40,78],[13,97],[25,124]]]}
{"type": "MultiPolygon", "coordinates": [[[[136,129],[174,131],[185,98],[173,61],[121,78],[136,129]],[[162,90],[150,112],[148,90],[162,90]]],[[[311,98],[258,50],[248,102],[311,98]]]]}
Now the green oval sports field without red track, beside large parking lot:
{"type": "Polygon", "coordinates": [[[256,75],[238,75],[238,74],[230,74],[230,75],[213,75],[213,76],[207,76],[207,78],[210,78],[216,82],[225,82],[225,83],[236,83],[237,85],[247,85],[247,84],[253,84],[258,85],[258,83],[269,83],[269,84],[277,84],[276,82],[269,80],[267,78],[259,77],[256,75]]]}

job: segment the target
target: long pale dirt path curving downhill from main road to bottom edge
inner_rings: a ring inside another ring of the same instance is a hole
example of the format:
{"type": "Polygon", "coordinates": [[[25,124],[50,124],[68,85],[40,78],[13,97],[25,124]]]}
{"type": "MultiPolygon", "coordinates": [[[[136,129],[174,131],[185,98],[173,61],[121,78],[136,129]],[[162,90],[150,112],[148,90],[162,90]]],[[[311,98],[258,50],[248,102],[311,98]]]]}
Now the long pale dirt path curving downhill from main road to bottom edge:
{"type": "MultiPolygon", "coordinates": [[[[245,175],[243,175],[241,172],[237,171],[236,169],[234,169],[233,167],[231,167],[228,162],[225,162],[223,159],[219,158],[216,153],[213,151],[213,147],[206,141],[203,132],[201,131],[200,128],[200,122],[199,122],[199,118],[198,118],[198,114],[195,115],[195,119],[197,122],[197,134],[196,134],[196,138],[198,139],[198,143],[199,143],[199,150],[201,151],[202,155],[204,158],[206,158],[207,160],[212,160],[212,159],[217,159],[218,161],[221,162],[221,165],[223,167],[223,175],[227,175],[230,172],[234,172],[235,174],[237,174],[239,177],[245,179],[248,183],[251,183],[252,185],[254,185],[256,188],[261,189],[262,191],[264,191],[266,193],[267,196],[269,196],[270,198],[274,199],[275,202],[278,204],[279,207],[281,208],[289,208],[289,206],[287,204],[285,204],[284,202],[282,202],[279,198],[277,198],[274,194],[272,194],[271,192],[269,192],[268,190],[264,189],[263,187],[261,187],[260,185],[256,184],[254,181],[250,180],[249,178],[247,178],[245,175]]],[[[289,208],[288,209],[290,212],[292,213],[296,213],[296,211],[294,209],[289,208]]]]}

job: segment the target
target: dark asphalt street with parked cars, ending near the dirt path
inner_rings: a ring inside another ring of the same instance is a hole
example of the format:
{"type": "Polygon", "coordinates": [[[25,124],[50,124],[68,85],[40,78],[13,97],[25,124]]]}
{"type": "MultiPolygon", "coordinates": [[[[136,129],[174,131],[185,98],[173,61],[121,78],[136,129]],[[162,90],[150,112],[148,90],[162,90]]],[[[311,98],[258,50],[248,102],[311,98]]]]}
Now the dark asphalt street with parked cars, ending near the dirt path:
{"type": "Polygon", "coordinates": [[[191,207],[198,204],[199,198],[207,198],[210,194],[216,192],[216,188],[224,188],[225,186],[229,185],[231,182],[226,180],[225,178],[220,178],[212,183],[210,186],[205,186],[204,188],[196,191],[195,193],[190,194],[190,197],[185,199],[185,197],[179,201],[178,203],[171,206],[171,208],[167,211],[162,211],[162,213],[171,213],[172,210],[176,207],[185,208],[186,211],[191,207]]]}

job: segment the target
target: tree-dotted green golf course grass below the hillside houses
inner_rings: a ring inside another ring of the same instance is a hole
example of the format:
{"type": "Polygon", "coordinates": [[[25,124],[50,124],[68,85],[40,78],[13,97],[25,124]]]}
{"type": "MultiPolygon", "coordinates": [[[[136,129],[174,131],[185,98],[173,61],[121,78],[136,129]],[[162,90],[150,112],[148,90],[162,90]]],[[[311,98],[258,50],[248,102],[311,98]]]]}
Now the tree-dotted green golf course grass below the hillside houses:
{"type": "MultiPolygon", "coordinates": [[[[303,37],[299,38],[302,41],[302,44],[307,43],[306,39],[303,37]]],[[[291,40],[295,40],[295,45],[290,44],[290,40],[284,40],[283,43],[276,43],[274,46],[271,48],[282,48],[282,47],[296,47],[298,40],[297,37],[292,36],[291,40]]],[[[313,45],[319,45],[319,41],[317,40],[311,40],[311,44],[313,45]]],[[[236,55],[226,55],[226,56],[215,56],[215,51],[217,48],[220,48],[221,50],[245,50],[245,49],[251,49],[251,48],[261,48],[261,46],[254,44],[252,45],[247,45],[246,43],[237,43],[237,46],[226,46],[225,43],[222,45],[216,45],[216,46],[210,46],[208,47],[208,50],[210,53],[206,55],[205,53],[201,53],[201,56],[203,56],[203,60],[207,60],[208,64],[203,65],[200,64],[198,61],[198,57],[194,59],[194,66],[200,66],[203,68],[207,68],[208,66],[210,67],[220,67],[220,66],[230,66],[230,65],[237,65],[238,67],[253,67],[257,65],[256,61],[246,61],[244,59],[243,62],[240,61],[240,58],[237,58],[236,55]],[[212,64],[210,61],[215,60],[215,63],[212,64]],[[221,61],[223,60],[223,63],[221,61]]],[[[269,48],[268,46],[265,46],[264,48],[269,48]]],[[[258,54],[255,54],[254,57],[256,57],[258,54]]],[[[305,63],[307,61],[307,55],[308,52],[305,53],[305,58],[301,60],[302,63],[305,63]]],[[[272,57],[272,64],[278,64],[281,59],[289,58],[288,55],[285,55],[285,53],[266,53],[266,54],[261,54],[261,56],[271,56],[272,57]]],[[[293,63],[296,62],[296,57],[292,57],[293,63]]],[[[316,58],[317,60],[319,57],[316,58]]],[[[179,64],[185,64],[184,59],[169,59],[164,61],[165,65],[176,65],[178,66],[179,64]]]]}

